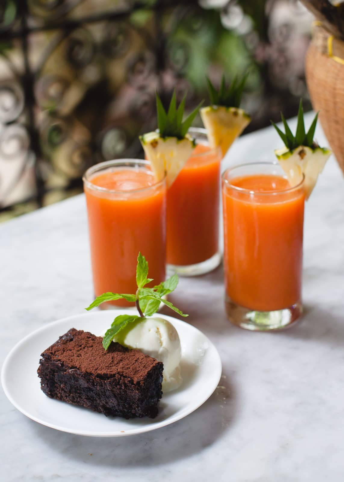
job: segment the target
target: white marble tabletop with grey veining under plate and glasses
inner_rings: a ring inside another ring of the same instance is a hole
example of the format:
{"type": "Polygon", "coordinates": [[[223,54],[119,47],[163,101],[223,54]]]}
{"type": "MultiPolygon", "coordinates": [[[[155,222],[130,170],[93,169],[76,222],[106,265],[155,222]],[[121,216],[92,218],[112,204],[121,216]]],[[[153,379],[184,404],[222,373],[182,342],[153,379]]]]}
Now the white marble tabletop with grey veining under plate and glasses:
{"type": "MultiPolygon", "coordinates": [[[[325,144],[320,129],[316,137],[325,144]]],[[[272,128],[249,134],[225,165],[272,159],[279,145],[272,128]]],[[[173,300],[223,362],[208,402],[157,431],[95,439],[29,420],[1,391],[0,479],[344,480],[343,246],[344,179],[332,157],[306,206],[301,323],[278,334],[240,330],[225,318],[222,268],[181,280],[173,300]]],[[[0,254],[2,361],[22,336],[93,298],[83,196],[0,225],[0,254]]]]}

